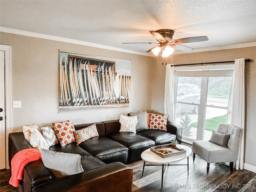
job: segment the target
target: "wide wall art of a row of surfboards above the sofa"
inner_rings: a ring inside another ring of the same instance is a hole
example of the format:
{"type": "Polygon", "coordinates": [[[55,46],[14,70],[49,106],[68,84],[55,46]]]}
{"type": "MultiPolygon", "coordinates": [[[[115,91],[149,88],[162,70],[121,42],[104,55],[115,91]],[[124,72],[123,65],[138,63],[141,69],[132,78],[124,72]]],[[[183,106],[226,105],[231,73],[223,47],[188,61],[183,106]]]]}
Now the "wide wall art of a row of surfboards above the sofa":
{"type": "Polygon", "coordinates": [[[129,107],[131,60],[59,51],[59,112],[129,107]]]}

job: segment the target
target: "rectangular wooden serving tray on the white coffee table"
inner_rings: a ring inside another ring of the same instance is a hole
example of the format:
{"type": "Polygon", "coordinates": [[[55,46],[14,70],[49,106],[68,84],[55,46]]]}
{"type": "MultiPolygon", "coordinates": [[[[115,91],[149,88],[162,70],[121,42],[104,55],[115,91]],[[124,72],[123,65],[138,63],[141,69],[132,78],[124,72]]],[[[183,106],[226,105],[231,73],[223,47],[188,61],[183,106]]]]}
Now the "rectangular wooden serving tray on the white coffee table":
{"type": "Polygon", "coordinates": [[[159,155],[162,158],[167,158],[167,157],[173,157],[173,156],[186,154],[185,149],[182,149],[179,146],[176,146],[176,148],[173,149],[172,144],[165,144],[165,145],[150,147],[150,151],[154,152],[155,154],[159,155]],[[163,154],[162,152],[159,152],[158,150],[161,150],[161,149],[166,149],[166,150],[169,151],[169,153],[163,154]]]}

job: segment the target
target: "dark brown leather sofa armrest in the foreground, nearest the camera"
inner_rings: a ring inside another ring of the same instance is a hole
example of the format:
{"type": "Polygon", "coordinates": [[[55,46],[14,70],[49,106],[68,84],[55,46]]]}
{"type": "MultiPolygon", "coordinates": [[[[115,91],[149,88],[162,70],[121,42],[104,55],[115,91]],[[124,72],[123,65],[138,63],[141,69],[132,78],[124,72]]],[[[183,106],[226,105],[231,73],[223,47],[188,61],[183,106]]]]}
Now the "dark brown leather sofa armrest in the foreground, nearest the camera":
{"type": "Polygon", "coordinates": [[[33,192],[131,192],[132,169],[120,162],[36,186],[33,192]]]}

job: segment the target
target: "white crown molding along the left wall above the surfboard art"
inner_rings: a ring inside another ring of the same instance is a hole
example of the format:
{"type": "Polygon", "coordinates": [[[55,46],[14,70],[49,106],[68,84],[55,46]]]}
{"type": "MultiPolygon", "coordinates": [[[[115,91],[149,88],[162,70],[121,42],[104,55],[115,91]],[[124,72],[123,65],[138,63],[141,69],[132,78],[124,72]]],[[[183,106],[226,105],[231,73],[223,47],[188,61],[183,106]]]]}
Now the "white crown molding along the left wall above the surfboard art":
{"type": "Polygon", "coordinates": [[[57,37],[57,36],[52,36],[52,35],[45,35],[45,34],[28,32],[28,31],[23,31],[23,30],[18,30],[18,29],[6,28],[6,27],[0,27],[0,32],[6,32],[6,33],[17,34],[17,35],[24,35],[24,36],[30,36],[30,37],[36,37],[36,38],[42,38],[42,39],[48,39],[48,40],[54,40],[54,41],[60,41],[60,42],[66,42],[66,43],[72,43],[72,44],[78,44],[78,45],[84,45],[84,46],[90,46],[90,47],[96,47],[96,48],[102,48],[102,49],[113,50],[113,51],[124,52],[124,53],[131,53],[131,54],[144,55],[144,56],[152,56],[152,54],[150,54],[150,53],[127,50],[127,49],[116,48],[116,47],[111,47],[111,46],[106,46],[106,45],[101,45],[101,44],[96,44],[96,43],[84,42],[84,41],[80,41],[80,40],[57,37]]]}

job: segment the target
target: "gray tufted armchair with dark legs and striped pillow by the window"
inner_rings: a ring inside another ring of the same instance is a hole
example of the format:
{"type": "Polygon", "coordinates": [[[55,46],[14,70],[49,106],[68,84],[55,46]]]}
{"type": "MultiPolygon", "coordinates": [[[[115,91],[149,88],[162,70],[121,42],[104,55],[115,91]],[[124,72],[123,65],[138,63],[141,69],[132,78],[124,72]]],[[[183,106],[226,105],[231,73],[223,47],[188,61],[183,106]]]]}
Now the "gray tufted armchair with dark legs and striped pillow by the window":
{"type": "Polygon", "coordinates": [[[241,131],[242,129],[237,126],[220,124],[217,132],[212,132],[209,141],[193,142],[193,162],[197,154],[207,162],[207,173],[210,163],[217,162],[230,162],[230,171],[233,171],[234,161],[238,156],[241,131]]]}

